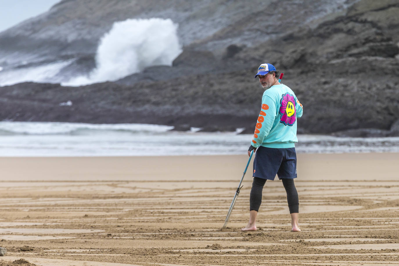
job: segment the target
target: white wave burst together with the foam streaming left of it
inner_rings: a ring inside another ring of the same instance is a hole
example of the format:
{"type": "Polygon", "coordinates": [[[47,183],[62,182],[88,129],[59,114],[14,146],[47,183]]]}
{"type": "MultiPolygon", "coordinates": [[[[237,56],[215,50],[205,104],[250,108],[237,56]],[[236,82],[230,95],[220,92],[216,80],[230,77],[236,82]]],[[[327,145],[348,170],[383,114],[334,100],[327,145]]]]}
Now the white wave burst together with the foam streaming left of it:
{"type": "MultiPolygon", "coordinates": [[[[26,81],[61,83],[81,86],[116,81],[150,66],[171,66],[182,52],[178,24],[170,19],[128,19],[115,22],[99,41],[95,55],[96,67],[87,75],[67,76],[63,69],[77,59],[32,65],[22,62],[18,68],[0,67],[0,86],[26,81]]],[[[16,55],[18,56],[18,55],[16,55]]]]}

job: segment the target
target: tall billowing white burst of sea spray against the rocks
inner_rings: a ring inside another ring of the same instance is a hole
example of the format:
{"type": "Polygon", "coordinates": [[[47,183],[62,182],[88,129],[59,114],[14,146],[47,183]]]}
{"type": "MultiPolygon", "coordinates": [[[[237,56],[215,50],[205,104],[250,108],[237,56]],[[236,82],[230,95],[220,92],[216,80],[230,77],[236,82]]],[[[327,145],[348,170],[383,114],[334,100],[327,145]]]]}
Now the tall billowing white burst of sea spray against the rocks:
{"type": "Polygon", "coordinates": [[[128,19],[115,22],[100,40],[96,69],[88,77],[75,77],[67,86],[115,81],[154,65],[172,65],[182,52],[178,25],[170,19],[128,19]]]}

